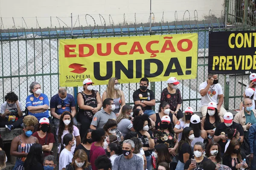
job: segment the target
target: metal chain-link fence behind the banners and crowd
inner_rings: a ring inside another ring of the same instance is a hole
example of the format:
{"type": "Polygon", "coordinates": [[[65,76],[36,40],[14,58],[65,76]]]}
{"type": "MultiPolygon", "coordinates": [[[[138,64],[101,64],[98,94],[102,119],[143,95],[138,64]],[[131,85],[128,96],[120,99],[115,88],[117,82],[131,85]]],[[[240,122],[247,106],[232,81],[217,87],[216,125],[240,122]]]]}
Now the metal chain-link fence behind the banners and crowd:
{"type": "MultiPolygon", "coordinates": [[[[33,81],[41,84],[43,93],[50,99],[51,96],[58,93],[59,88],[59,71],[58,71],[58,40],[68,38],[95,38],[95,37],[117,37],[117,36],[143,36],[149,34],[186,34],[198,33],[198,75],[197,79],[181,80],[179,89],[183,98],[182,109],[191,106],[194,110],[199,111],[201,107],[201,95],[198,87],[201,82],[206,81],[208,73],[208,48],[209,48],[209,31],[226,31],[224,28],[224,17],[212,20],[209,17],[202,21],[183,21],[174,22],[173,25],[163,20],[159,24],[148,27],[141,24],[131,28],[128,24],[118,26],[98,25],[77,30],[61,28],[47,28],[42,31],[37,30],[13,29],[1,30],[0,34],[0,100],[4,102],[4,96],[9,91],[14,91],[25,105],[26,97],[29,95],[29,85],[33,81]],[[194,24],[192,24],[194,22],[194,24]]],[[[2,28],[2,27],[1,27],[2,28]]],[[[235,28],[233,28],[234,30],[235,28]]],[[[239,28],[240,29],[240,28],[239,28]]],[[[170,75],[171,77],[172,75],[170,75]]],[[[223,91],[225,88],[225,75],[219,75],[219,83],[223,91]]],[[[248,84],[248,75],[230,75],[230,92],[225,96],[229,101],[229,109],[238,109],[242,99],[242,93],[245,89],[243,84],[248,84]]],[[[106,90],[106,85],[94,86],[102,95],[106,90]]],[[[163,88],[167,87],[166,82],[150,82],[149,88],[154,90],[156,97],[155,110],[159,108],[160,94],[163,88]]],[[[122,91],[125,94],[125,102],[133,105],[133,92],[139,88],[139,83],[122,84],[122,91]]],[[[74,94],[78,89],[67,87],[67,92],[74,94]]],[[[24,108],[24,106],[23,106],[24,108]]]]}

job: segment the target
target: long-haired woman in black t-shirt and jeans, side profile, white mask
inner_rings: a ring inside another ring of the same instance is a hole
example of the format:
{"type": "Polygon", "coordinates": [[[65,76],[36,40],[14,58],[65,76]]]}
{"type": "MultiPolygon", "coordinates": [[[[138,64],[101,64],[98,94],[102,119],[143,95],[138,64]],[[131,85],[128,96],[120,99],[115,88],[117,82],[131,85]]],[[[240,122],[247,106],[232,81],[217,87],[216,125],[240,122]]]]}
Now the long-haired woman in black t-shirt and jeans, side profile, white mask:
{"type": "Polygon", "coordinates": [[[194,130],[192,127],[185,127],[182,132],[181,140],[178,147],[179,161],[175,170],[183,170],[187,160],[193,156],[191,147],[192,140],[195,139],[194,130]]]}

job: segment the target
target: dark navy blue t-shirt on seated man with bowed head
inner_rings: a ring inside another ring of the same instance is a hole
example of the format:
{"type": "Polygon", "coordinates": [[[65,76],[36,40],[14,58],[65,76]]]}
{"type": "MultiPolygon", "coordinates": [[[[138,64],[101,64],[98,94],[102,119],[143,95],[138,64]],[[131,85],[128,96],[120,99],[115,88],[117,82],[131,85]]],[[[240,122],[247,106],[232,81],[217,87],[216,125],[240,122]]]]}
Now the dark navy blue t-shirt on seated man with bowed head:
{"type": "Polygon", "coordinates": [[[58,94],[52,96],[50,101],[50,108],[55,108],[55,113],[58,115],[62,114],[64,111],[71,113],[71,107],[76,106],[75,98],[71,94],[67,94],[65,100],[61,100],[58,94]]]}

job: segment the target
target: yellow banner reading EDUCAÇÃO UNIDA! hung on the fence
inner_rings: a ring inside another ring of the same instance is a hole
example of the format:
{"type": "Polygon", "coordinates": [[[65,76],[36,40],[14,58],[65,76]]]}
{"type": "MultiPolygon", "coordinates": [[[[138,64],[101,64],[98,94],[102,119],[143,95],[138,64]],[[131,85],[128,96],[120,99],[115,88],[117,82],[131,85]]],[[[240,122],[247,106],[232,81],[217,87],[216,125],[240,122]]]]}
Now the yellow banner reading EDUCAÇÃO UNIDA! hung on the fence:
{"type": "Polygon", "coordinates": [[[59,43],[60,85],[82,86],[86,78],[106,85],[194,79],[197,75],[198,34],[64,39],[59,43]]]}

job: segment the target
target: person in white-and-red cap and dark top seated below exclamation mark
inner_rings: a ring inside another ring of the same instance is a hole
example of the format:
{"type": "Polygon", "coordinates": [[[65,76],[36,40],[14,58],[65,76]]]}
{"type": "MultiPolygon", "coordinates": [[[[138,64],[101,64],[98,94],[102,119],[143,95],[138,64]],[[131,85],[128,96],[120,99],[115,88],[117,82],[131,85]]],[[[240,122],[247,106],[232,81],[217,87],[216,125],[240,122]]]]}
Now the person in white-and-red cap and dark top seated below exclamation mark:
{"type": "Polygon", "coordinates": [[[167,88],[164,88],[161,93],[160,103],[169,103],[170,112],[174,114],[177,119],[180,119],[183,117],[183,113],[180,110],[182,98],[180,94],[180,89],[177,86],[178,84],[180,84],[180,82],[178,82],[175,77],[170,77],[167,80],[167,88]]]}

